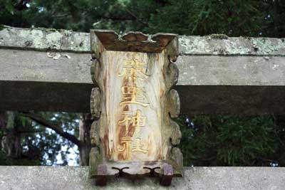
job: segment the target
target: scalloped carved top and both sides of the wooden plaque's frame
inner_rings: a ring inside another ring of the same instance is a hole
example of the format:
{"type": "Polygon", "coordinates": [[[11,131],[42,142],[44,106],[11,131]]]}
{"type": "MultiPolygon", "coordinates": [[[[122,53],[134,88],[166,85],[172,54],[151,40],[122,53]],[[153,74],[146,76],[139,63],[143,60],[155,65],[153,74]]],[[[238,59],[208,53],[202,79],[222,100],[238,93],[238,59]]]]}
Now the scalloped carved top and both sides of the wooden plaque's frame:
{"type": "Polygon", "coordinates": [[[173,167],[173,172],[175,176],[182,176],[182,166],[183,158],[182,153],[177,145],[180,144],[181,131],[180,126],[172,120],[172,118],[178,117],[180,114],[180,98],[173,86],[177,84],[179,70],[175,61],[179,56],[178,51],[178,38],[174,34],[157,33],[153,36],[147,36],[140,32],[130,32],[123,36],[118,36],[113,31],[91,31],[91,50],[93,63],[90,68],[90,73],[92,75],[93,83],[98,85],[99,88],[93,88],[91,92],[90,108],[91,113],[95,119],[90,131],[91,138],[91,151],[90,151],[90,177],[94,178],[98,176],[98,165],[103,163],[103,147],[100,147],[100,137],[99,137],[99,122],[100,122],[100,105],[103,100],[103,95],[100,93],[100,89],[103,89],[102,84],[98,83],[98,78],[100,78],[100,70],[103,67],[101,63],[101,54],[106,50],[115,51],[142,51],[150,53],[162,53],[166,56],[165,65],[163,65],[164,78],[165,78],[165,115],[164,118],[167,120],[167,129],[162,131],[163,142],[167,143],[167,157],[165,161],[173,167]],[[98,36],[98,37],[97,37],[98,36]],[[127,43],[127,44],[125,44],[127,43]],[[149,44],[152,43],[152,46],[149,44]],[[111,48],[112,44],[115,44],[111,48]],[[158,46],[160,44],[160,46],[158,46]],[[128,46],[129,48],[122,49],[122,47],[128,46]],[[144,48],[148,48],[145,51],[144,48]],[[135,47],[136,49],[132,49],[135,47]],[[156,47],[155,50],[151,49],[156,47]],[[158,47],[158,48],[157,48],[158,47]]]}

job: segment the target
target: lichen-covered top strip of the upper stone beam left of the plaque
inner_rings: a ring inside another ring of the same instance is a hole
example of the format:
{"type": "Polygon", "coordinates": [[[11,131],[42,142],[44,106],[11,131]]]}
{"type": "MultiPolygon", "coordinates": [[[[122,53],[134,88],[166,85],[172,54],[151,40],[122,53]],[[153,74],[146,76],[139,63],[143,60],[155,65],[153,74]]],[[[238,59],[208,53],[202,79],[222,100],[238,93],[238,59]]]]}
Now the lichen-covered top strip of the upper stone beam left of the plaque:
{"type": "Polygon", "coordinates": [[[89,33],[53,28],[14,28],[0,30],[0,48],[37,51],[90,52],[89,33]]]}

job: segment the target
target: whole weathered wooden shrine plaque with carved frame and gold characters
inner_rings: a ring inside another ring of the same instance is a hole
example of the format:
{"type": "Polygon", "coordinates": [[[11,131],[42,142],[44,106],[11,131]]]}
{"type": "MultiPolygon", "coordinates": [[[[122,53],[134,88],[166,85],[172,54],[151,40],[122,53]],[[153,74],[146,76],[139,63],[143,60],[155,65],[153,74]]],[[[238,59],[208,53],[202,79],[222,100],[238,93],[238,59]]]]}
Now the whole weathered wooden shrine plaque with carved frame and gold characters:
{"type": "Polygon", "coordinates": [[[182,176],[180,99],[175,61],[177,35],[90,32],[90,177],[105,185],[111,176],[160,176],[170,185],[182,176]]]}

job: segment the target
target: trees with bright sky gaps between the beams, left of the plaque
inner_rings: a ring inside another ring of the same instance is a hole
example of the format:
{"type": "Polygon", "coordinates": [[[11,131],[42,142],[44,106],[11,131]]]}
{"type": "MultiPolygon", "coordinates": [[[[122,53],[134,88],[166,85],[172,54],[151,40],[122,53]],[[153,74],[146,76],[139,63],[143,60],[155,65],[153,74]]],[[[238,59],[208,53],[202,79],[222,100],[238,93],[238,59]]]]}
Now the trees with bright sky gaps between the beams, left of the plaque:
{"type": "MultiPolygon", "coordinates": [[[[61,127],[63,132],[73,134],[75,137],[79,136],[79,114],[66,112],[37,112],[36,114],[61,127]]],[[[0,142],[6,144],[6,148],[2,145],[0,149],[0,165],[66,165],[71,161],[68,154],[71,149],[76,149],[75,144],[46,126],[38,125],[37,122],[22,116],[19,112],[9,112],[9,115],[12,115],[9,121],[11,124],[7,122],[6,127],[0,130],[0,142]],[[14,142],[16,137],[20,138],[19,143],[14,142]],[[11,149],[12,154],[8,155],[8,149],[11,146],[14,148],[11,149]],[[21,153],[16,154],[16,152],[21,153]],[[60,155],[59,160],[58,155],[60,155]]]]}

